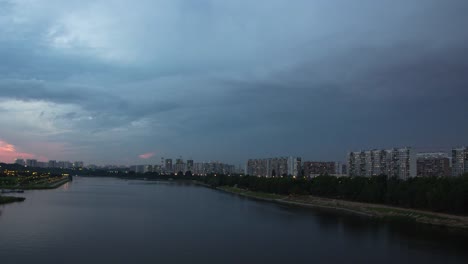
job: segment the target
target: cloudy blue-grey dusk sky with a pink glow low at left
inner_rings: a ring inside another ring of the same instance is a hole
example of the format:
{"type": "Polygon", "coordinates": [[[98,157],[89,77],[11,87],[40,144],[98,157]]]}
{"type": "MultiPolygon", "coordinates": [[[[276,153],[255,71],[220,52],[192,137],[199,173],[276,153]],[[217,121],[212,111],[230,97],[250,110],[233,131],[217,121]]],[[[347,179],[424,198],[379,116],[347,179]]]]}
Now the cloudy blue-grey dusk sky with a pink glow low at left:
{"type": "Polygon", "coordinates": [[[0,161],[468,145],[466,0],[0,0],[0,161]]]}

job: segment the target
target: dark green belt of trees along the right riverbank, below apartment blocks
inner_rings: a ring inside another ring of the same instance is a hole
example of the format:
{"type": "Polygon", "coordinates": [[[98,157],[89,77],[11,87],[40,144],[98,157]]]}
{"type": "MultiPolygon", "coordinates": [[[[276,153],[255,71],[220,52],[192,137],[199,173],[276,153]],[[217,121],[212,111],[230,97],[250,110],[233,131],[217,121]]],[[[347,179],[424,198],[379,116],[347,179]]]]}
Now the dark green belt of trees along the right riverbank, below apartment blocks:
{"type": "Polygon", "coordinates": [[[468,175],[400,180],[376,177],[318,176],[310,180],[291,177],[194,176],[213,187],[237,186],[256,192],[282,195],[309,194],[365,203],[379,203],[435,212],[468,215],[468,175]]]}

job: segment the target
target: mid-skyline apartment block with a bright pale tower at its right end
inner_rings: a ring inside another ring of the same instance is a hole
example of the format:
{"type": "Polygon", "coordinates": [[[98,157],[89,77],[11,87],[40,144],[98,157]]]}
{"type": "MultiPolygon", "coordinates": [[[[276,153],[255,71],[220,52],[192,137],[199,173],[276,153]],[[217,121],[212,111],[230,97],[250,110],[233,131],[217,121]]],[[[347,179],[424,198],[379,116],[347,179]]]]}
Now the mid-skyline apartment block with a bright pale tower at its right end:
{"type": "Polygon", "coordinates": [[[249,159],[245,173],[258,177],[300,176],[301,158],[249,159]]]}

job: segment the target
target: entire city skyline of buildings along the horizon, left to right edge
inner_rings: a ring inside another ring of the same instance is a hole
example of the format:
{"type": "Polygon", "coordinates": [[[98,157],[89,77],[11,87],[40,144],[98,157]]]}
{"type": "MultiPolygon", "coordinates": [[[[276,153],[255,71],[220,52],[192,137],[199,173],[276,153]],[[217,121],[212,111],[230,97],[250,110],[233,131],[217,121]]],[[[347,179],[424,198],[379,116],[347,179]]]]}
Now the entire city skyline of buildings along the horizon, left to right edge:
{"type": "MultiPolygon", "coordinates": [[[[41,162],[36,159],[15,160],[16,164],[37,168],[82,169],[82,161],[41,162]]],[[[300,157],[249,159],[245,168],[222,162],[194,162],[194,160],[164,159],[156,165],[96,166],[88,169],[106,169],[115,172],[156,172],[160,174],[247,174],[258,177],[306,177],[320,175],[372,177],[386,175],[399,179],[412,177],[447,177],[468,173],[468,147],[454,148],[451,155],[444,152],[416,153],[412,148],[372,149],[350,152],[345,164],[335,161],[302,161],[300,157]]]]}

